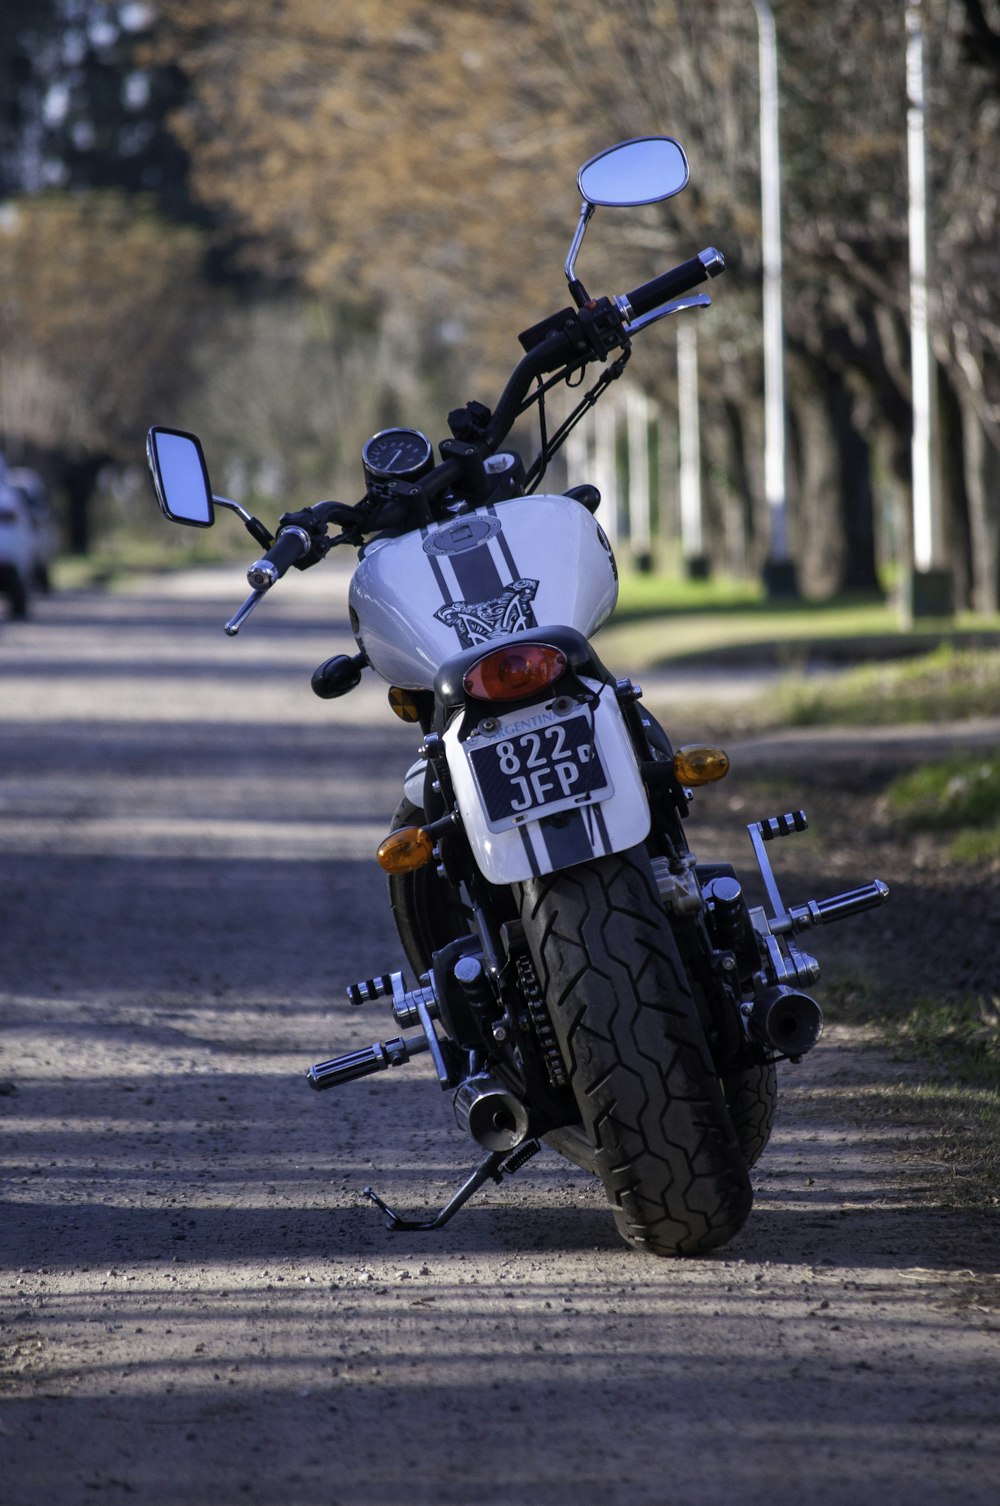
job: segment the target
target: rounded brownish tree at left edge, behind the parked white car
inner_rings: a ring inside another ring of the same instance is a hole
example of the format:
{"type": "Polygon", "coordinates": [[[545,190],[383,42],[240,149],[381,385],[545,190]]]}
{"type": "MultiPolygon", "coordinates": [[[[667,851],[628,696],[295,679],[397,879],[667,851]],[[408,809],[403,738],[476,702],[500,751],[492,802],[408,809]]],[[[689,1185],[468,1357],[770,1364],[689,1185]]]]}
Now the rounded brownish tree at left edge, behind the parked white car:
{"type": "Polygon", "coordinates": [[[202,303],[202,242],[122,194],[9,200],[0,214],[0,422],[42,456],[89,547],[101,465],[134,459],[176,402],[202,303]]]}

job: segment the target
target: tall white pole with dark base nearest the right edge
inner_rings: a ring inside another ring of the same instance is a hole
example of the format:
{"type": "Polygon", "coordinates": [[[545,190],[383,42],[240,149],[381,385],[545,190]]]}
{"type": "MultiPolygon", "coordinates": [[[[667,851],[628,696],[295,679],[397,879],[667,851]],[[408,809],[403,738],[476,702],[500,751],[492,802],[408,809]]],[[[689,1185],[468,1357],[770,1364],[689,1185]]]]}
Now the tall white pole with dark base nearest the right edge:
{"type": "Polygon", "coordinates": [[[928,310],[926,77],[922,0],[907,0],[907,163],[910,187],[910,373],[913,384],[913,563],[904,619],[953,611],[935,470],[934,352],[928,310]]]}

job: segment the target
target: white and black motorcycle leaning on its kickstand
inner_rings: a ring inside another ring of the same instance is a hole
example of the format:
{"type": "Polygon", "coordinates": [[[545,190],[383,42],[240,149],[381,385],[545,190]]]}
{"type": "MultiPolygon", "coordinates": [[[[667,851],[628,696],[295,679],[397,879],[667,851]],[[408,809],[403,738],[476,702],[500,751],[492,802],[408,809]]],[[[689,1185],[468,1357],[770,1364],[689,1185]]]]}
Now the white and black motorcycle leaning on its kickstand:
{"type": "Polygon", "coordinates": [[[640,687],[593,648],[617,598],[596,488],[538,491],[636,336],[711,301],[693,289],[723,271],[712,247],[619,297],[592,298],[577,276],[596,208],[666,200],[687,179],[670,137],[586,163],[565,267],[572,301],[523,331],[494,410],[468,402],[449,414],[437,461],[416,429],[367,440],[355,505],[286,512],[273,538],[212,494],[194,435],[149,431],[164,515],[211,527],[221,506],[265,550],[226,633],[291,566],[355,548],[358,652],[321,664],[312,688],[336,699],[372,670],[420,730],[378,849],[414,977],[401,968],[348,988],[351,1005],[384,1001],[401,1033],[307,1072],[325,1090],[429,1053],[480,1158],[434,1217],[405,1217],[366,1188],[393,1229],[443,1227],[545,1142],[599,1176],[627,1244],[691,1256],[732,1239],[771,1134],[776,1063],[800,1060],[822,1029],[806,992],[819,967],[798,937],[889,895],[873,880],[786,907],[768,848],[804,830],[803,812],[747,828],[767,905],[748,902],[732,864],[696,858],[685,818],[727,756],[675,748],[640,687]],[[568,387],[575,398],[592,366],[596,380],[550,432],[547,396],[568,387]],[[505,441],[532,408],[539,450],[526,467],[505,441]]]}

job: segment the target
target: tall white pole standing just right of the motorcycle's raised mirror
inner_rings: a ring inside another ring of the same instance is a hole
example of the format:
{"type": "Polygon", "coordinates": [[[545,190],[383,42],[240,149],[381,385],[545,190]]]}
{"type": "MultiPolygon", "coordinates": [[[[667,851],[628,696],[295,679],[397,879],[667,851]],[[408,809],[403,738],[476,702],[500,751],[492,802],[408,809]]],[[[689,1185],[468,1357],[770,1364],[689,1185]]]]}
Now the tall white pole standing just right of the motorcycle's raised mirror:
{"type": "Polygon", "coordinates": [[[764,566],[768,596],[797,596],[788,554],[785,464],[785,321],[782,313],[782,157],[777,108],[777,32],[768,0],[753,0],[761,78],[761,252],[764,259],[764,494],[770,545],[764,566]]]}

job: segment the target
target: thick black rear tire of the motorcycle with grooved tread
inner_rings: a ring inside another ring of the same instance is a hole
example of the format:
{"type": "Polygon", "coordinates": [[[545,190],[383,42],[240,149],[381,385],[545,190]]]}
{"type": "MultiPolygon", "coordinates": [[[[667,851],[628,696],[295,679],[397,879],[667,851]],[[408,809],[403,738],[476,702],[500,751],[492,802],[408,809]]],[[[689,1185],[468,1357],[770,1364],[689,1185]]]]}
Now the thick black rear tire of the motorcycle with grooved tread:
{"type": "Polygon", "coordinates": [[[663,1256],[724,1244],[753,1194],[645,851],[530,880],[520,902],[619,1233],[663,1256]]]}

